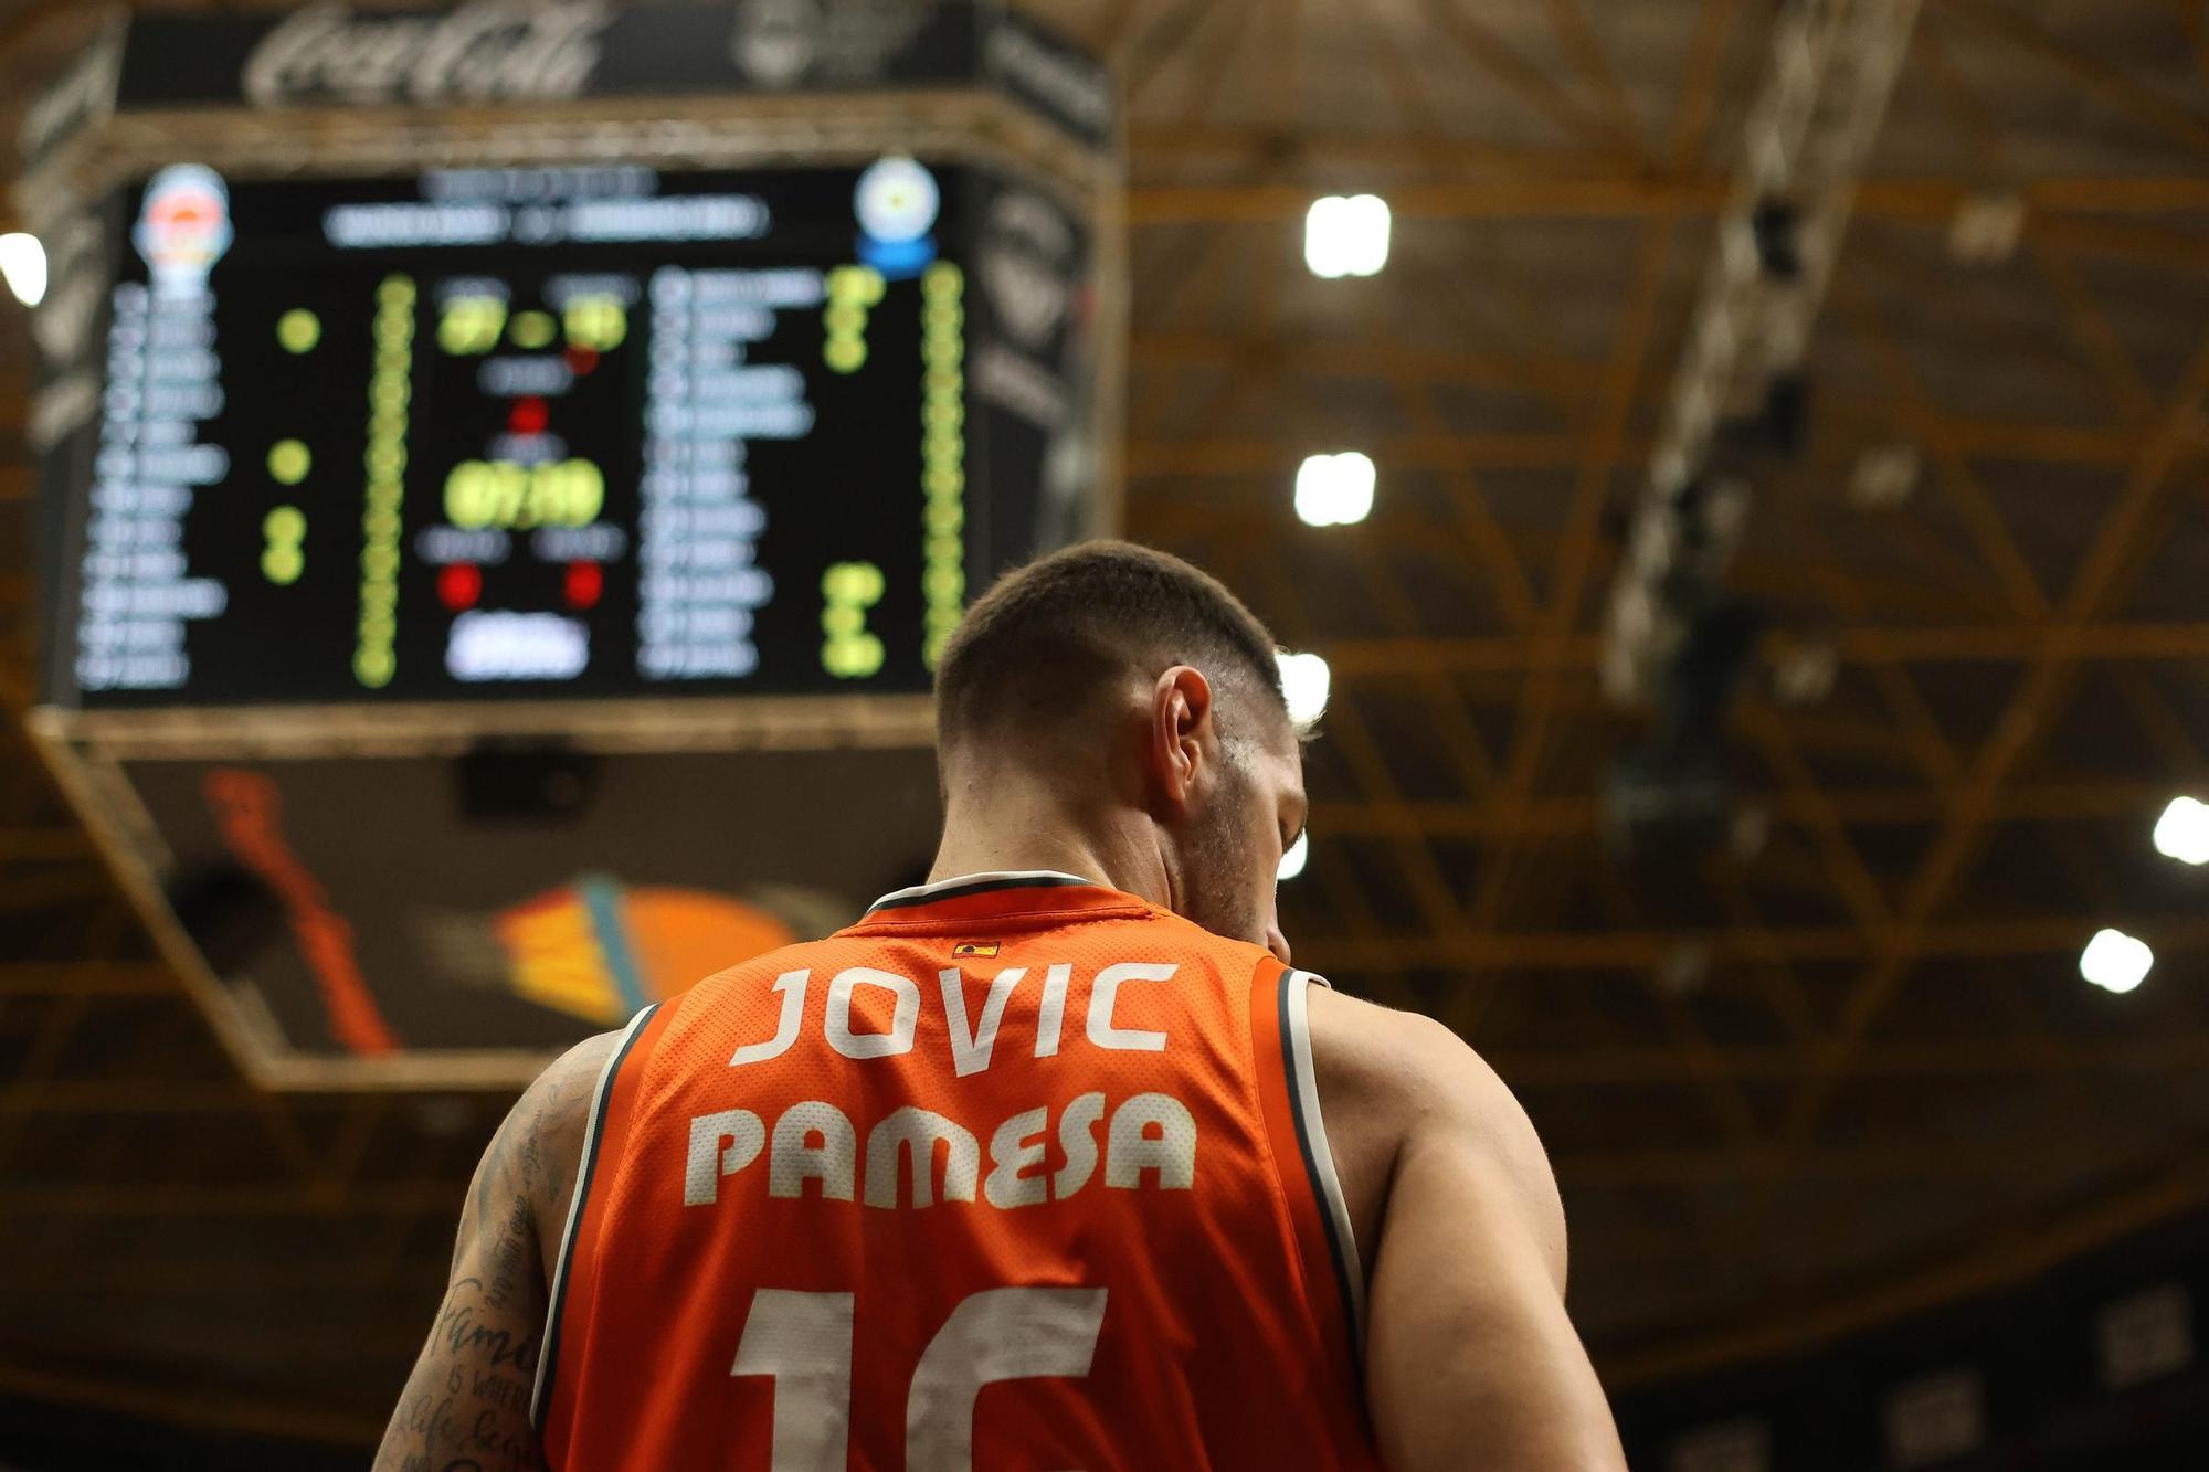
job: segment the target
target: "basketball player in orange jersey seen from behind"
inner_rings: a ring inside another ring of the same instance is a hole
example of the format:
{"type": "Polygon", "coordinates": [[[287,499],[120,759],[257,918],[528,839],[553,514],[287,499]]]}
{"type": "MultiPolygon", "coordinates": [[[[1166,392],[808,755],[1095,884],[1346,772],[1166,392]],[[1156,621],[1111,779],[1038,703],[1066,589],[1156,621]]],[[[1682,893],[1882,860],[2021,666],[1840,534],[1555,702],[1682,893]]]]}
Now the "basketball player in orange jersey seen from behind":
{"type": "Polygon", "coordinates": [[[521,1096],[376,1465],[1624,1468],[1526,1114],[1290,968],[1257,619],[1078,546],[937,712],[928,884],[521,1096]]]}

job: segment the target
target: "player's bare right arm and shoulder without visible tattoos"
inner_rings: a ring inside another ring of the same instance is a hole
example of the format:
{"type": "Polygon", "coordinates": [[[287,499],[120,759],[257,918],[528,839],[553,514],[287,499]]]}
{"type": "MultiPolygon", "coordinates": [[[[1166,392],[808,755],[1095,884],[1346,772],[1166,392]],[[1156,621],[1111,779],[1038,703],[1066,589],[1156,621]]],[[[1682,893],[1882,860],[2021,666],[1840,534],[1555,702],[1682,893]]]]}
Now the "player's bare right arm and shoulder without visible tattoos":
{"type": "Polygon", "coordinates": [[[1365,1397],[1398,1472],[1624,1472],[1564,1313],[1564,1209],[1526,1112],[1425,1017],[1312,995],[1328,1143],[1367,1266],[1365,1397]]]}

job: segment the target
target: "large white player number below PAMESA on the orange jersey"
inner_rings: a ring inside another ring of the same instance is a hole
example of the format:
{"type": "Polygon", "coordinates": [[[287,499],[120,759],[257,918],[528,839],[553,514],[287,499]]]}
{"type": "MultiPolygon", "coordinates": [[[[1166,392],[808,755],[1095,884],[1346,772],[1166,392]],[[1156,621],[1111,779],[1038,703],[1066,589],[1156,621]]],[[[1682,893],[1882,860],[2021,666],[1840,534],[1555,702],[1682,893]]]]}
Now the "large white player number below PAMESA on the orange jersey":
{"type": "MultiPolygon", "coordinates": [[[[844,1472],[850,1457],[850,1293],[751,1295],[729,1375],[775,1381],[773,1472],[844,1472]]],[[[974,1401],[1003,1379],[1089,1375],[1104,1289],[985,1289],[928,1342],[906,1392],[906,1468],[970,1472],[974,1401]]]]}

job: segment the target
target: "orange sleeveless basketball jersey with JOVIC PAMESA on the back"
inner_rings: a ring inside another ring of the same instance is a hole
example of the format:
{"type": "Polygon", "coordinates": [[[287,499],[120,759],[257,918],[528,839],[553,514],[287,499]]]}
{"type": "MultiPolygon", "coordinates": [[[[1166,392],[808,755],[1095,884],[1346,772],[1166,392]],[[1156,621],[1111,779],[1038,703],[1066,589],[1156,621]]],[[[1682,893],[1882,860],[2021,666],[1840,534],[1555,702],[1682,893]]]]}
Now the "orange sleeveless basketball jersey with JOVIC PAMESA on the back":
{"type": "Polygon", "coordinates": [[[641,1012],[552,1284],[552,1465],[1376,1468],[1312,981],[972,875],[641,1012]]]}

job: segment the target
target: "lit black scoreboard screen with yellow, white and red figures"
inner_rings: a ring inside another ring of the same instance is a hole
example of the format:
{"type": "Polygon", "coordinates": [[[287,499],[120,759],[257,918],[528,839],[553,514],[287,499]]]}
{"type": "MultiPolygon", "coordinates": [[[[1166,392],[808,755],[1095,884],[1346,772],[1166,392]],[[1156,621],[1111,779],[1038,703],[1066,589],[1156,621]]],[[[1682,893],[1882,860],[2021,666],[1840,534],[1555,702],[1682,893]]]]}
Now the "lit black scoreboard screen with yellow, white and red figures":
{"type": "Polygon", "coordinates": [[[119,201],[86,707],[923,692],[972,177],[459,170],[119,201]]]}

